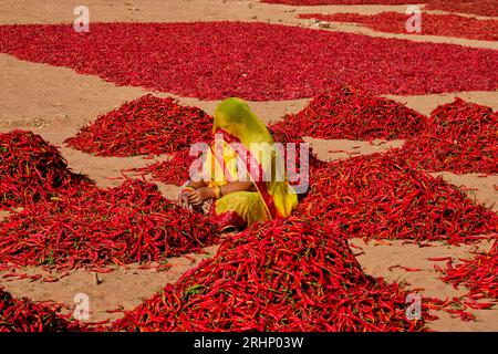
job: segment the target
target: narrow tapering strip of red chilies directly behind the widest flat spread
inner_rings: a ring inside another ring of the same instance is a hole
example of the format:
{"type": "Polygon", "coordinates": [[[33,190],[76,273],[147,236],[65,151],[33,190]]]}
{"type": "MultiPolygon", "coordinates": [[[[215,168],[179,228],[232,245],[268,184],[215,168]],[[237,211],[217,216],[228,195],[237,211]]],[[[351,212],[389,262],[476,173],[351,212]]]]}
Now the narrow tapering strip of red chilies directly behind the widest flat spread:
{"type": "MultiPolygon", "coordinates": [[[[497,4],[495,4],[497,6],[497,4]]],[[[456,14],[424,13],[421,32],[407,32],[406,22],[411,14],[381,12],[373,15],[359,13],[301,13],[300,19],[317,19],[328,22],[353,22],[366,25],[375,31],[387,33],[412,33],[422,35],[459,37],[471,40],[498,40],[497,20],[478,20],[456,14]]]]}

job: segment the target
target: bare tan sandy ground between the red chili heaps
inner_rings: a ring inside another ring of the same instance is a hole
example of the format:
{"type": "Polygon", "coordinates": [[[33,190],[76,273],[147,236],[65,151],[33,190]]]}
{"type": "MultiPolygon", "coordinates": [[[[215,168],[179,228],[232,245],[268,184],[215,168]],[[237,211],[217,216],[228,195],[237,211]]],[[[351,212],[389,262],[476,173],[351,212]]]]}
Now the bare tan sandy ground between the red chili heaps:
{"type": "MultiPolygon", "coordinates": [[[[74,6],[79,1],[2,1],[0,7],[0,24],[2,23],[60,23],[72,22],[74,6]]],[[[91,21],[211,21],[211,20],[240,20],[264,21],[315,28],[311,20],[299,20],[297,13],[305,12],[360,12],[377,13],[381,11],[404,12],[405,7],[286,7],[262,4],[256,1],[222,1],[222,0],[185,0],[185,1],[87,1],[91,9],[91,21]],[[178,4],[180,3],[180,4],[178,4]]],[[[365,29],[352,28],[347,24],[332,24],[330,30],[356,31],[366,35],[382,35],[393,38],[408,38],[416,41],[444,41],[477,48],[497,48],[496,43],[483,41],[467,41],[456,39],[388,35],[380,34],[365,29]]],[[[122,169],[142,167],[154,160],[142,157],[114,158],[93,157],[63,146],[62,142],[73,136],[79,127],[87,124],[100,114],[118,107],[125,101],[139,97],[148,91],[141,87],[115,86],[96,76],[80,75],[64,67],[53,67],[44,64],[20,61],[12,56],[0,54],[0,132],[12,128],[24,128],[42,135],[45,139],[61,147],[63,156],[70,167],[77,173],[89,175],[101,187],[120,185],[116,178],[122,169]],[[20,96],[20,93],[22,95],[20,96]],[[20,98],[21,97],[21,98],[20,98]]],[[[168,93],[153,92],[157,95],[168,93]]],[[[496,92],[463,92],[442,95],[391,96],[406,103],[409,107],[429,114],[437,105],[448,103],[458,95],[465,100],[489,105],[498,110],[498,93],[496,92]]],[[[183,104],[196,105],[212,114],[217,101],[199,101],[176,96],[183,104]]],[[[302,110],[308,100],[281,102],[250,102],[250,106],[266,123],[280,119],[284,114],[302,110]]],[[[359,154],[372,154],[388,147],[397,147],[403,140],[374,142],[373,144],[353,140],[324,140],[305,138],[318,153],[319,158],[331,160],[346,158],[359,154]],[[344,150],[347,153],[338,153],[344,150]]],[[[159,156],[155,160],[164,160],[159,156]]],[[[457,186],[467,186],[469,197],[476,202],[483,202],[497,210],[498,192],[494,185],[498,185],[497,176],[480,178],[476,174],[454,175],[440,173],[443,178],[457,186]],[[494,206],[492,206],[494,205],[494,206]]],[[[159,185],[160,191],[167,197],[176,195],[177,187],[159,185]]],[[[0,212],[0,220],[8,214],[0,212]]],[[[361,247],[364,254],[357,257],[364,269],[376,277],[387,280],[406,280],[411,288],[424,288],[424,294],[445,299],[465,292],[458,291],[437,279],[428,257],[454,258],[468,257],[469,251],[478,247],[486,249],[483,242],[477,246],[450,247],[437,242],[435,247],[419,248],[402,242],[365,243],[353,239],[351,243],[361,247]],[[421,272],[406,272],[400,269],[390,271],[391,266],[401,264],[421,268],[421,272]]],[[[180,257],[170,259],[172,268],[167,271],[141,270],[137,264],[127,269],[120,268],[112,273],[100,274],[103,281],[97,284],[94,273],[77,270],[56,282],[38,280],[2,279],[1,285],[14,295],[24,295],[35,301],[52,300],[73,305],[76,293],[86,293],[90,296],[92,311],[91,321],[115,319],[120,314],[107,313],[107,310],[118,308],[131,310],[143,299],[159,290],[166,282],[174,282],[186,270],[197,264],[201,259],[210,257],[217,247],[210,247],[206,254],[180,257]],[[193,262],[193,259],[195,260],[193,262]]],[[[21,270],[25,273],[40,273],[40,269],[21,270]]],[[[4,272],[0,272],[0,277],[4,272]]],[[[58,274],[52,274],[59,277],[58,274]]],[[[0,278],[1,279],[1,278],[0,278]]],[[[437,313],[440,319],[429,322],[429,326],[437,331],[498,331],[498,310],[475,311],[477,322],[463,322],[448,314],[437,313]]]]}

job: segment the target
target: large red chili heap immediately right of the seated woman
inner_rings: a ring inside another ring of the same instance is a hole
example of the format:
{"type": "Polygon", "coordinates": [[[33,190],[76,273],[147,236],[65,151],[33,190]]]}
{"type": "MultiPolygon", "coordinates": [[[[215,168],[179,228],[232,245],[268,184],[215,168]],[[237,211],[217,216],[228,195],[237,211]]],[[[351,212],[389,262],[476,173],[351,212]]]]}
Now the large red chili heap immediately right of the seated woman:
{"type": "Polygon", "coordinates": [[[366,239],[460,243],[498,231],[495,212],[392,152],[318,168],[295,214],[318,219],[330,232],[366,239]]]}

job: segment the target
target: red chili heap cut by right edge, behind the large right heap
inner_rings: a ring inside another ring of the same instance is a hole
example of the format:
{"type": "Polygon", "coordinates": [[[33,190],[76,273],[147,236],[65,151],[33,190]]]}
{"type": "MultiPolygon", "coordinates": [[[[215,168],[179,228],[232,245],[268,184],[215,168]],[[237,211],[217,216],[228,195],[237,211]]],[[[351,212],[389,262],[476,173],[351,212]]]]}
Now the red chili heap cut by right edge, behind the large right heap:
{"type": "Polygon", "coordinates": [[[457,174],[498,173],[498,114],[456,98],[436,107],[426,128],[409,138],[400,158],[417,168],[457,174]]]}

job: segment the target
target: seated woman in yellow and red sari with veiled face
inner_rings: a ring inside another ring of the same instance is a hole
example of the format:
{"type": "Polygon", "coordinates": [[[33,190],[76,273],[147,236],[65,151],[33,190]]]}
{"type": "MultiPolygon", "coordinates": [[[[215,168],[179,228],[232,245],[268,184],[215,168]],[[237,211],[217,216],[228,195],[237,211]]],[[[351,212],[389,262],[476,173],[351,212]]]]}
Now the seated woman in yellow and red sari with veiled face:
{"type": "Polygon", "coordinates": [[[235,97],[221,102],[212,132],[203,178],[183,186],[178,204],[209,209],[221,230],[289,216],[298,196],[284,174],[279,178],[273,138],[249,106],[235,97]]]}

